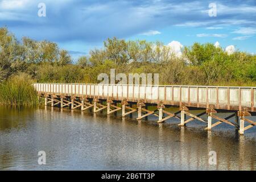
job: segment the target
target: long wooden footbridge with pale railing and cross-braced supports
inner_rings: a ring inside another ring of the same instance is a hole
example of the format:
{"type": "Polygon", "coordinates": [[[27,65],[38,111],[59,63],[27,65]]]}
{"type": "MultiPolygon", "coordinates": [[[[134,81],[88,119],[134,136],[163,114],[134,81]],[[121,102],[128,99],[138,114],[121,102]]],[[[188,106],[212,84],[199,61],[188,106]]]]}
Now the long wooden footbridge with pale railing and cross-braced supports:
{"type": "Polygon", "coordinates": [[[256,115],[256,87],[48,83],[36,83],[34,87],[39,96],[44,97],[45,105],[51,104],[52,107],[93,108],[94,113],[106,109],[107,114],[122,110],[123,117],[137,111],[138,120],[151,114],[158,117],[158,123],[175,117],[180,119],[179,126],[197,119],[207,123],[205,130],[226,123],[237,127],[241,135],[256,123],[246,118],[256,115]],[[122,106],[117,106],[117,103],[122,106]],[[132,104],[137,104],[137,107],[133,108],[132,104]],[[148,105],[157,105],[158,109],[148,110],[148,105]],[[171,106],[178,106],[179,111],[170,113],[164,110],[171,106]],[[189,113],[189,110],[196,109],[205,111],[197,115],[189,113]],[[232,114],[220,118],[216,115],[220,112],[232,114]],[[204,114],[208,115],[207,121],[200,118],[204,114]],[[186,115],[191,118],[186,119],[186,115]],[[235,123],[228,121],[232,117],[235,117],[235,123]],[[212,123],[212,118],[217,122],[212,123]],[[246,127],[245,122],[249,123],[246,127]]]}

